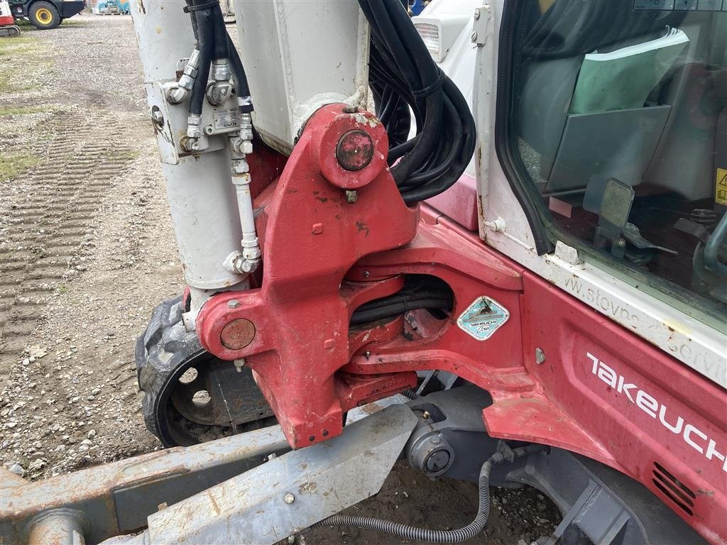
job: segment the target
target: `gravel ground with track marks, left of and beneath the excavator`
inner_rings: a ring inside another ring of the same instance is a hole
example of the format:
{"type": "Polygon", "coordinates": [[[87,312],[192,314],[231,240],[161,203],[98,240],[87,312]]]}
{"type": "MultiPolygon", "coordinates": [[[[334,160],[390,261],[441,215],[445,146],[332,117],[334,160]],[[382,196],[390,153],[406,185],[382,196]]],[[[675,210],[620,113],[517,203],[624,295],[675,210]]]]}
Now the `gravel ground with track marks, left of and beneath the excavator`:
{"type": "MultiPolygon", "coordinates": [[[[30,151],[33,163],[0,180],[0,460],[32,480],[160,448],[143,424],[133,347],[152,308],[182,290],[131,20],[72,21],[26,31],[20,45],[0,39],[4,70],[19,69],[9,48],[36,59],[0,93],[0,153],[30,151]]],[[[492,493],[473,543],[529,543],[558,520],[532,489],[492,493]]],[[[454,528],[476,498],[472,483],[401,466],[352,510],[454,528]]],[[[298,541],[405,542],[331,528],[298,541]]]]}

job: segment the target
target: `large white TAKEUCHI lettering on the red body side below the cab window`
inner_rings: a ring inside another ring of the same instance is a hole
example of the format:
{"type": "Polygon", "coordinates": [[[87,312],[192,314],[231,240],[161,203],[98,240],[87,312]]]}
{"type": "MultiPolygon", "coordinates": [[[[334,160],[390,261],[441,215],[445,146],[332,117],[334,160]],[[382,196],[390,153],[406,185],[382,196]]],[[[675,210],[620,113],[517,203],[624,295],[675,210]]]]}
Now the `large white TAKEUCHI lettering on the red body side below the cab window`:
{"type": "Polygon", "coordinates": [[[658,420],[659,424],[662,424],[670,432],[681,437],[684,443],[694,448],[707,460],[717,459],[721,461],[722,470],[727,472],[727,456],[718,451],[717,442],[714,439],[707,436],[694,424],[690,424],[676,411],[670,411],[667,405],[660,403],[656,397],[640,389],[638,384],[628,382],[628,379],[616,373],[613,368],[607,366],[606,363],[603,363],[590,352],[586,352],[586,355],[593,363],[591,367],[592,374],[626,397],[630,403],[636,405],[652,419],[658,420]]]}

